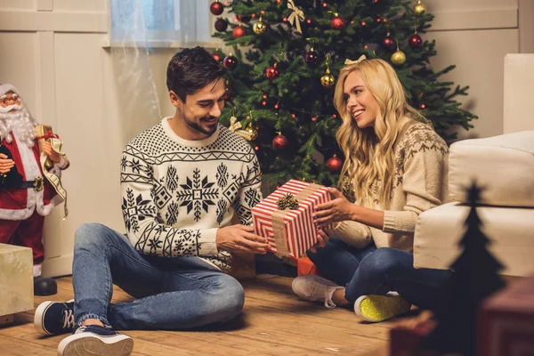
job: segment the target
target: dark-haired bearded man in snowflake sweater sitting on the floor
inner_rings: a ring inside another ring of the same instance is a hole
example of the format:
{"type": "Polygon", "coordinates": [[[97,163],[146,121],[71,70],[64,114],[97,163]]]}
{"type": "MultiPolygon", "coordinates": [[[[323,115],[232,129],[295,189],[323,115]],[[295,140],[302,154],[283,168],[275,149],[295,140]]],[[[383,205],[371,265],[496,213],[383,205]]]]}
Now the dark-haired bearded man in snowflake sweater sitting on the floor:
{"type": "Polygon", "coordinates": [[[167,68],[174,117],[126,145],[121,160],[127,237],[96,223],[76,233],[75,303],[42,303],[36,329],[60,334],[59,355],[129,355],[133,340],[113,329],[186,329],[239,314],[243,288],[228,271],[231,253],[264,254],[250,209],[261,199],[254,150],[218,125],[223,71],[201,47],[176,53],[167,68]],[[231,225],[237,213],[238,225],[231,225]],[[110,304],[112,283],[138,298],[110,304]],[[73,312],[74,310],[74,312],[73,312]],[[93,352],[93,353],[91,353],[93,352]]]}

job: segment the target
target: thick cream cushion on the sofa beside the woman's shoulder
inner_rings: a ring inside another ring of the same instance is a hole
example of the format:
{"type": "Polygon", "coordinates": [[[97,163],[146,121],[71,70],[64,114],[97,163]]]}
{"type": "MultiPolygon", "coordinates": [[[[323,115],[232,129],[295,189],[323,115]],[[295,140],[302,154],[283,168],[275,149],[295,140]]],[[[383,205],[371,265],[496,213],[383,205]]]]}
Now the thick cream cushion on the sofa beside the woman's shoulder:
{"type": "Polygon", "coordinates": [[[455,142],[449,153],[449,193],[465,202],[471,181],[491,206],[534,206],[534,131],[455,142]]]}

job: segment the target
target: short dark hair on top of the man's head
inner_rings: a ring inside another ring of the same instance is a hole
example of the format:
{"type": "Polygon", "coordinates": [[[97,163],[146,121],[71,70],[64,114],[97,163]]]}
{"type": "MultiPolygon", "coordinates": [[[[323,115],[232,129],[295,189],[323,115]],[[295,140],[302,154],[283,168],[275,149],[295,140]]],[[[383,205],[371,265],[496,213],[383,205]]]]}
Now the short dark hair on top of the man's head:
{"type": "Polygon", "coordinates": [[[185,102],[187,95],[198,92],[224,75],[218,61],[203,47],[184,48],[169,61],[167,88],[185,102]]]}

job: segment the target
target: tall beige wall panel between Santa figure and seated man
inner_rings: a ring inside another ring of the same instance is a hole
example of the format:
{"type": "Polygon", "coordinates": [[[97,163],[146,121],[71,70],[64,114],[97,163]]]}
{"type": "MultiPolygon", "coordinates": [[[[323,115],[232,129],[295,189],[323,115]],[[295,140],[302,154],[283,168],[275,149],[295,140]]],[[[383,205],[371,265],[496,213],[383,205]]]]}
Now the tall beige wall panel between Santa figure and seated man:
{"type": "MultiPolygon", "coordinates": [[[[49,217],[47,235],[61,239],[61,261],[48,259],[45,274],[68,274],[77,227],[85,222],[124,230],[120,210],[119,162],[124,146],[114,114],[113,77],[100,35],[56,34],[57,121],[71,166],[64,172],[69,217],[61,210],[49,217]],[[69,261],[70,259],[70,261],[69,261]]],[[[125,124],[125,123],[122,123],[125,124]]]]}

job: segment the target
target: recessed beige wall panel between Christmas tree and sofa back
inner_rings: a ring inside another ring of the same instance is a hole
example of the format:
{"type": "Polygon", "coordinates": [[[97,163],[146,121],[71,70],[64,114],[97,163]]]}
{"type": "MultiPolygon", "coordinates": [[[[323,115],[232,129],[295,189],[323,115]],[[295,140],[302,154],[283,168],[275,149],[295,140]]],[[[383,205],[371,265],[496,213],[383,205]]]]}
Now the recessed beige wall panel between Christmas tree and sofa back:
{"type": "Polygon", "coordinates": [[[518,52],[517,28],[443,31],[425,37],[436,40],[438,55],[431,61],[433,69],[457,65],[441,81],[470,86],[468,96],[458,101],[479,118],[473,129],[459,129],[458,139],[502,134],[504,61],[506,53],[518,52]]]}

